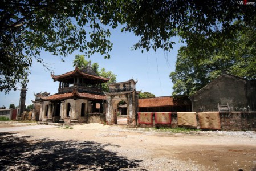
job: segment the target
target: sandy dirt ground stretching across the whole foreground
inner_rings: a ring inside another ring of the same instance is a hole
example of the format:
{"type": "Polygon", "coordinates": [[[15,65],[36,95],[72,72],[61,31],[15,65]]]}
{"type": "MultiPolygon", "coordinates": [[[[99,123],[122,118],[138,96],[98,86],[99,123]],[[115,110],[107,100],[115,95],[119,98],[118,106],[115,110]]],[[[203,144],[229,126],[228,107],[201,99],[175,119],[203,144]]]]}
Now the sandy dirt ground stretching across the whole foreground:
{"type": "Polygon", "coordinates": [[[39,126],[0,123],[0,170],[256,170],[256,132],[39,126]]]}

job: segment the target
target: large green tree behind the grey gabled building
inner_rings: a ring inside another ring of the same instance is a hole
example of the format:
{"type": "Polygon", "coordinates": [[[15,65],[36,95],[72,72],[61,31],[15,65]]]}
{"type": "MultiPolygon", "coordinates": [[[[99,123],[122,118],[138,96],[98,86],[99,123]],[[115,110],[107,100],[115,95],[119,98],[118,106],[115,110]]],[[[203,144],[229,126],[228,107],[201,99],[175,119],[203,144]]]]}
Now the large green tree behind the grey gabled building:
{"type": "Polygon", "coordinates": [[[173,82],[172,95],[191,96],[224,71],[255,79],[255,31],[255,27],[245,27],[236,33],[235,38],[211,40],[212,46],[209,47],[213,50],[191,50],[189,45],[181,47],[176,70],[169,75],[173,82]]]}

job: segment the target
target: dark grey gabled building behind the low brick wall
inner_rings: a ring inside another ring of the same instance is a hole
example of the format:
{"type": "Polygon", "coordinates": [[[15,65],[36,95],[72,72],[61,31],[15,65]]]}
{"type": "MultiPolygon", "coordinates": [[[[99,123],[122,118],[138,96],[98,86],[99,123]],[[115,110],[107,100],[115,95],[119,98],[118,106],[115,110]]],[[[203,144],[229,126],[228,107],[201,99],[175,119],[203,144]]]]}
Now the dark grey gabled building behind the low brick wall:
{"type": "Polygon", "coordinates": [[[255,111],[256,82],[223,73],[190,97],[192,111],[255,111]]]}

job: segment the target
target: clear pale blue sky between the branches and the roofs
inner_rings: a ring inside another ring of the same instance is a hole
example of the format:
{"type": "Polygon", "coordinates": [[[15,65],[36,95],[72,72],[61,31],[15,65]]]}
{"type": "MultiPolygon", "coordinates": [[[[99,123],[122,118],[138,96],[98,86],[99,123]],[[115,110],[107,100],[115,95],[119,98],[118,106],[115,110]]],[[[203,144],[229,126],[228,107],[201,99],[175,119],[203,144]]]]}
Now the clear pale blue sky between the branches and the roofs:
{"type": "MultiPolygon", "coordinates": [[[[177,51],[181,46],[178,38],[173,38],[173,50],[166,52],[164,50],[151,50],[141,53],[141,50],[132,51],[131,47],[137,43],[139,37],[133,33],[123,32],[120,29],[112,31],[111,42],[113,43],[111,58],[104,59],[103,56],[95,54],[89,59],[92,63],[99,63],[99,68],[104,67],[106,71],[112,71],[117,75],[117,82],[124,82],[129,79],[138,79],[136,90],[142,92],[151,92],[156,96],[170,96],[172,94],[172,80],[169,79],[170,72],[175,70],[175,62],[177,51]]],[[[44,62],[51,64],[54,68],[54,74],[60,75],[65,72],[74,70],[73,60],[76,54],[74,52],[64,58],[62,62],[60,56],[54,56],[46,52],[42,52],[41,57],[44,62]]],[[[50,92],[51,95],[58,93],[59,82],[54,82],[50,72],[45,70],[42,64],[33,62],[27,84],[26,105],[32,104],[31,100],[35,100],[34,93],[50,92]]],[[[17,85],[18,87],[18,85],[17,85]]],[[[19,89],[19,87],[18,87],[19,89]]],[[[9,108],[10,104],[19,105],[20,91],[11,91],[5,95],[0,93],[0,107],[5,105],[9,108]]]]}

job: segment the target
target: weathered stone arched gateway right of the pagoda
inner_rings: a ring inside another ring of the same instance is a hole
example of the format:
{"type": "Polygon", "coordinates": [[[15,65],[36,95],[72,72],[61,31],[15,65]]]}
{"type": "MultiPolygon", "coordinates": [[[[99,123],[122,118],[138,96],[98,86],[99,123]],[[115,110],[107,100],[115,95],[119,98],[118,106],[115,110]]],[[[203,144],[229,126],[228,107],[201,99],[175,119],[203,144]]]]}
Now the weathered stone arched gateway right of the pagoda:
{"type": "Polygon", "coordinates": [[[117,124],[118,104],[125,101],[127,104],[127,125],[136,125],[136,113],[138,111],[138,91],[133,79],[127,82],[109,84],[107,95],[106,121],[107,124],[117,124]]]}

